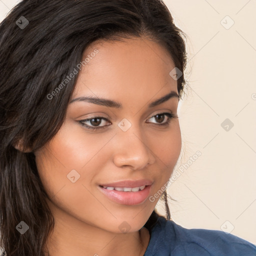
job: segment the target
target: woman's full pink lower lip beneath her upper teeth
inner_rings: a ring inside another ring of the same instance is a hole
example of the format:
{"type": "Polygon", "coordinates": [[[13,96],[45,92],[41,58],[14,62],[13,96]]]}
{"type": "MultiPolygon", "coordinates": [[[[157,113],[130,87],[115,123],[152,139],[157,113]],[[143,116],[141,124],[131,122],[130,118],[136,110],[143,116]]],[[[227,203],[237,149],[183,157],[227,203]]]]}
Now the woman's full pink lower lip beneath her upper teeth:
{"type": "Polygon", "coordinates": [[[146,200],[147,196],[149,195],[151,185],[147,185],[144,189],[136,192],[117,191],[115,189],[108,190],[101,186],[98,187],[100,188],[100,191],[112,201],[119,204],[134,205],[142,203],[146,200]]]}

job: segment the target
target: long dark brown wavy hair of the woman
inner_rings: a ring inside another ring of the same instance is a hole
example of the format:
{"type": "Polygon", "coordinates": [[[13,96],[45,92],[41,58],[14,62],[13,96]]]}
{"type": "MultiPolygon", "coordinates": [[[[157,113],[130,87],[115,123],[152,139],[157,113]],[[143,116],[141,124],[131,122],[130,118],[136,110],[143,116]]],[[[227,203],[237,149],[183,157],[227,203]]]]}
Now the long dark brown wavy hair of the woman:
{"type": "MultiPolygon", "coordinates": [[[[181,95],[186,35],[161,0],[22,0],[0,23],[0,246],[7,256],[44,256],[54,227],[33,152],[61,127],[77,76],[54,100],[47,94],[73,71],[91,42],[133,36],[167,49],[182,71],[181,95]],[[24,235],[16,230],[20,221],[29,226],[24,235]]],[[[170,219],[165,191],[162,197],[170,219]]],[[[149,231],[158,216],[153,210],[144,225],[149,231]]]]}

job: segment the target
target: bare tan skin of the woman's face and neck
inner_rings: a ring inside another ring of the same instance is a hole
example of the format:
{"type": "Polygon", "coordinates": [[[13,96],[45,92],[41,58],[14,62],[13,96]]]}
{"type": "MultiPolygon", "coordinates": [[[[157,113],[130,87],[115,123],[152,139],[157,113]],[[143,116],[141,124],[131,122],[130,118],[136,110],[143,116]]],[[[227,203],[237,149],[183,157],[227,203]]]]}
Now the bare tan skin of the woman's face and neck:
{"type": "Polygon", "coordinates": [[[143,255],[150,235],[142,226],[159,197],[123,205],[108,199],[98,185],[148,178],[153,181],[152,196],[168,181],[181,149],[178,118],[160,126],[167,116],[158,122],[151,117],[161,112],[177,114],[178,98],[147,107],[171,90],[178,93],[177,82],[169,75],[175,66],[169,53],[156,42],[133,38],[95,41],[84,56],[95,48],[99,52],[78,73],[71,99],[103,97],[123,107],[70,103],[59,131],[35,152],[55,219],[47,241],[51,256],[143,255]],[[101,119],[98,126],[110,125],[92,131],[77,122],[96,116],[108,119],[101,119]],[[131,123],[125,132],[117,125],[123,118],[131,123]],[[72,169],[80,175],[74,183],[67,178],[72,169]],[[130,226],[126,233],[119,229],[123,221],[130,226]]]}

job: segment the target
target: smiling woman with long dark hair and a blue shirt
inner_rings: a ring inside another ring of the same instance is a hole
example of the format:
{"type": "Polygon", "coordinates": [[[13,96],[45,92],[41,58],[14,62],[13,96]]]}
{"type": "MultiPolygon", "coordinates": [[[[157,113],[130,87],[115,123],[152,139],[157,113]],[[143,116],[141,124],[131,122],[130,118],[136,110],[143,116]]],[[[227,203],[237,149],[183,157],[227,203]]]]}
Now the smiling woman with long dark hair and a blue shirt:
{"type": "Polygon", "coordinates": [[[0,35],[8,256],[255,255],[239,237],[170,220],[186,51],[163,2],[23,0],[0,35]]]}

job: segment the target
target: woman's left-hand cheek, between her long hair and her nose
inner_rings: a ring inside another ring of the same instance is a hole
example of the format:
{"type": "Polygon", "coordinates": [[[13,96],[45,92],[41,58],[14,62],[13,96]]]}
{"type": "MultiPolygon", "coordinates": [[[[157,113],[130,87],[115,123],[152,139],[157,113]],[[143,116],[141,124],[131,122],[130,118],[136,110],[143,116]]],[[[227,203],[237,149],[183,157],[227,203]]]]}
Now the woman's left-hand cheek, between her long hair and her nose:
{"type": "Polygon", "coordinates": [[[56,204],[79,210],[84,210],[85,201],[93,205],[91,183],[107,159],[103,154],[106,151],[101,149],[110,138],[103,133],[85,136],[82,129],[66,125],[44,148],[35,152],[42,184],[56,204]]]}

